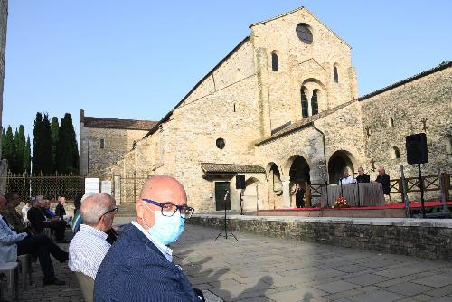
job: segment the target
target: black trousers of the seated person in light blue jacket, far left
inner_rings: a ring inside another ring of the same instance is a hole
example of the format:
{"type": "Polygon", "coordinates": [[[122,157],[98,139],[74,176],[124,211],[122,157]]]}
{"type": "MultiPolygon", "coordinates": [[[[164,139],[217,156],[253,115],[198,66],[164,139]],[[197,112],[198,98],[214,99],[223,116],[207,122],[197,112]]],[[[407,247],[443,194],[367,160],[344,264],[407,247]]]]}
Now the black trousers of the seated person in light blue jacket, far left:
{"type": "Polygon", "coordinates": [[[53,241],[45,235],[27,236],[24,240],[17,242],[17,255],[33,254],[39,258],[44,281],[55,279],[55,271],[52,264],[52,255],[61,263],[69,259],[66,251],[61,250],[53,241]]]}

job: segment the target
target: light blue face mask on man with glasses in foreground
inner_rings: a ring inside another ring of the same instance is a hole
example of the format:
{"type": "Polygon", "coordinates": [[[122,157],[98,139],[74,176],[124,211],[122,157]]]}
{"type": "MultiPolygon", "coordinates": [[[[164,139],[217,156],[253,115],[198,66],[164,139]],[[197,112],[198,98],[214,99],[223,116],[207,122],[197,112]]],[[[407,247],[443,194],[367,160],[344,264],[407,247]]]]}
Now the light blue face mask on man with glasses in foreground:
{"type": "Polygon", "coordinates": [[[168,245],[177,241],[179,237],[181,237],[185,227],[185,220],[182,218],[181,212],[177,211],[173,216],[169,217],[162,215],[161,211],[151,210],[147,207],[146,203],[145,206],[149,211],[154,212],[155,214],[154,226],[151,228],[147,226],[147,223],[142,218],[148,228],[147,231],[153,238],[164,245],[168,245]]]}

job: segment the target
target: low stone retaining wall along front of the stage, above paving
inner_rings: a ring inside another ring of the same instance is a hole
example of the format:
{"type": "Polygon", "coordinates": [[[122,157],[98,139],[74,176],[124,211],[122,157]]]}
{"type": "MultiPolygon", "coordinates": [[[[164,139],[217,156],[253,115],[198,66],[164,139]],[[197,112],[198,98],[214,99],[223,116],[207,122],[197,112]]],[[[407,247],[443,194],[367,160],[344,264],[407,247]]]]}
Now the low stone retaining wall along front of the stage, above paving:
{"type": "MultiPolygon", "coordinates": [[[[194,215],[187,222],[219,229],[224,225],[221,215],[194,215]]],[[[345,248],[452,260],[452,222],[449,220],[230,215],[228,228],[345,248]]]]}

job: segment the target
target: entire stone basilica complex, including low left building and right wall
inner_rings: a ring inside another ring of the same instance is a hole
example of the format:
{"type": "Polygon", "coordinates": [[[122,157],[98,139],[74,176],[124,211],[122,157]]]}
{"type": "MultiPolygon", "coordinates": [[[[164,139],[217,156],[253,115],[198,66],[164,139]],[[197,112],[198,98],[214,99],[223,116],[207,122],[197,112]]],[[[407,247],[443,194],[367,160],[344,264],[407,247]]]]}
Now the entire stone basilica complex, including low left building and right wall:
{"type": "Polygon", "coordinates": [[[196,212],[220,210],[225,195],[239,210],[235,177],[244,174],[245,211],[290,207],[296,182],[335,184],[344,167],[357,173],[363,166],[375,179],[378,165],[391,178],[404,165],[416,176],[405,136],[419,132],[428,136],[424,173],[450,173],[451,67],[359,97],[350,45],[301,7],[251,24],[250,35],[160,121],[113,134],[96,124],[102,118],[90,118],[97,135],[89,137],[80,118],[81,173],[173,175],[196,212]],[[100,140],[112,144],[100,147],[100,140]]]}

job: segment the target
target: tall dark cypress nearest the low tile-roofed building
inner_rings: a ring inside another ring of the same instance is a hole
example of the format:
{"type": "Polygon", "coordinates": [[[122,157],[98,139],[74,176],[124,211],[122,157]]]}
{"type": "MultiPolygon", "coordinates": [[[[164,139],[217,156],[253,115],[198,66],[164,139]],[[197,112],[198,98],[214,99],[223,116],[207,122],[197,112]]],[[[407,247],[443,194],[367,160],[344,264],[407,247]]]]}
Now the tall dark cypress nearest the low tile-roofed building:
{"type": "Polygon", "coordinates": [[[61,118],[57,148],[58,172],[62,174],[79,173],[79,148],[75,139],[71,114],[61,118]]]}

